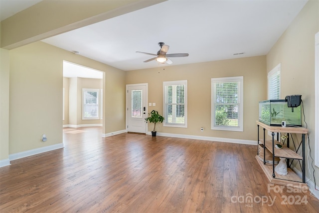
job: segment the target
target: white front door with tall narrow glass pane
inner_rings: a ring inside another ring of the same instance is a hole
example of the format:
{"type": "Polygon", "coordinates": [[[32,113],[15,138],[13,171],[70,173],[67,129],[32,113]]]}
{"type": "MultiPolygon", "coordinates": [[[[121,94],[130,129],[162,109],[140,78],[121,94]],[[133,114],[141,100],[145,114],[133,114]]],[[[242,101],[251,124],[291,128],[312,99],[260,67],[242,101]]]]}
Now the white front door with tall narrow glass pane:
{"type": "Polygon", "coordinates": [[[146,133],[148,84],[130,84],[127,88],[127,131],[146,133]]]}

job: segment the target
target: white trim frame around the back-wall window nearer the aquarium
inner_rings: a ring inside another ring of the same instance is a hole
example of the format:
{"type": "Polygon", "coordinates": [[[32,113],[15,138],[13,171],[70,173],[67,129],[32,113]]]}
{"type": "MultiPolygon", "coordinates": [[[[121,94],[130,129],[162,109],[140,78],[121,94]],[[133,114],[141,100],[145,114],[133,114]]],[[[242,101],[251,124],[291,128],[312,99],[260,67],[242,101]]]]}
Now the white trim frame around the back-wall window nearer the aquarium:
{"type": "Polygon", "coordinates": [[[224,131],[236,131],[243,132],[243,120],[244,120],[244,77],[222,77],[222,78],[212,78],[211,79],[211,130],[224,130],[224,131]],[[239,116],[238,116],[238,127],[234,126],[215,126],[215,83],[225,83],[225,82],[239,82],[239,116]]]}

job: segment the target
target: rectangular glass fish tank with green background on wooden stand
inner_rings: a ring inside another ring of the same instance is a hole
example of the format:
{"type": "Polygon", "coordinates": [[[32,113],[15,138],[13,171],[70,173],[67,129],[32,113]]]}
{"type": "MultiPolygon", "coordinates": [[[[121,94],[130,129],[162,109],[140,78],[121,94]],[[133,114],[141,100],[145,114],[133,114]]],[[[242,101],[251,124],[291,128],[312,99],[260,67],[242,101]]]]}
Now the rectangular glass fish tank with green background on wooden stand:
{"type": "Polygon", "coordinates": [[[266,100],[259,102],[259,121],[269,126],[302,126],[301,106],[288,107],[285,100],[266,100]]]}

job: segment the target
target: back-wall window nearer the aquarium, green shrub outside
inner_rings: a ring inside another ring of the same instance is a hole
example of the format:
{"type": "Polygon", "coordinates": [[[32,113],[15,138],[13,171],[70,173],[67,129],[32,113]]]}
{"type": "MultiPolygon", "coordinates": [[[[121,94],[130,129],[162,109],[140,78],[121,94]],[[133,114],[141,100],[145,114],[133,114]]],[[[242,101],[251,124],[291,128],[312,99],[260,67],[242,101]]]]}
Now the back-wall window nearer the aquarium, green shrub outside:
{"type": "Polygon", "coordinates": [[[211,79],[211,129],[243,131],[243,76],[211,79]]]}

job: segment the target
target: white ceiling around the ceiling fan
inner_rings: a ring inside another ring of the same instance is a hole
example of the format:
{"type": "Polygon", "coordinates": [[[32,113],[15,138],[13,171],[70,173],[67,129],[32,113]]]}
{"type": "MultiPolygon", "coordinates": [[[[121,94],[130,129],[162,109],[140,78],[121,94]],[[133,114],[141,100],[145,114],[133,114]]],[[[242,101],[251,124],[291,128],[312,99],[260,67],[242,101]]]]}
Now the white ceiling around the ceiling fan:
{"type": "Polygon", "coordinates": [[[122,70],[266,55],[306,2],[168,0],[43,41],[122,70]],[[161,41],[189,56],[144,63],[161,41]]]}

